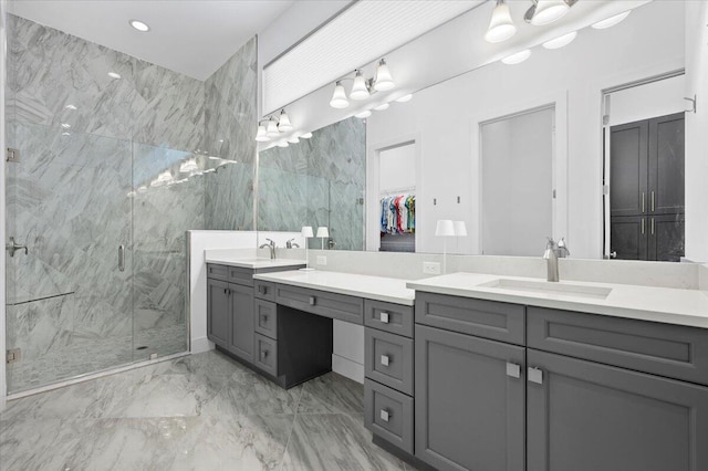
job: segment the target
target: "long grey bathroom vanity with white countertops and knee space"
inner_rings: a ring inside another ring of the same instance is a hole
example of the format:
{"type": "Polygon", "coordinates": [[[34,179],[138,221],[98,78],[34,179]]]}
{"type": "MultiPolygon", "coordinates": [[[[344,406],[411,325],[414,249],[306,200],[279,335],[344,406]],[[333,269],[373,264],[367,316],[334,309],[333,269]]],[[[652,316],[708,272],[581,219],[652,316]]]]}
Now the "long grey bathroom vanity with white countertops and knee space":
{"type": "Polygon", "coordinates": [[[208,266],[209,338],[284,388],[364,325],[365,425],[419,468],[708,467],[702,291],[208,266]]]}

